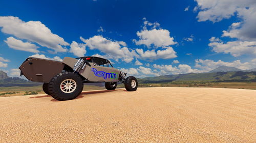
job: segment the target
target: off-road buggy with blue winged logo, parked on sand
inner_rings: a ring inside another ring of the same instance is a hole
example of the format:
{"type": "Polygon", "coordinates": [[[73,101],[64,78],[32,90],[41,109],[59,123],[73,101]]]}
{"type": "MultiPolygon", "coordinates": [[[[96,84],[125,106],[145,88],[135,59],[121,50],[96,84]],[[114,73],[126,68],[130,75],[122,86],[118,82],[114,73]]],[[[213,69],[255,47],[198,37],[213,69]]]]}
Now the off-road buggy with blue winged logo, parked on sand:
{"type": "Polygon", "coordinates": [[[65,57],[62,62],[27,58],[19,69],[20,75],[29,80],[44,82],[44,92],[57,100],[75,99],[86,82],[105,82],[107,90],[115,90],[118,81],[124,83],[127,91],[138,88],[134,76],[125,78],[126,73],[113,68],[109,60],[96,56],[65,57]]]}

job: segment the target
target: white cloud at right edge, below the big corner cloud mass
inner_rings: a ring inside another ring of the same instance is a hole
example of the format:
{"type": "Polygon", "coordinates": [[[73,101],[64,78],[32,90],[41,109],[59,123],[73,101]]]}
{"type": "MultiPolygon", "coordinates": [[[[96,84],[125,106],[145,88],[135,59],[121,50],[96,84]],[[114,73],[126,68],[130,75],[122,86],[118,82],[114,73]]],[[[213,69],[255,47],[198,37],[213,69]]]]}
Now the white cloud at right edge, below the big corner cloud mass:
{"type": "Polygon", "coordinates": [[[230,41],[222,42],[218,38],[211,37],[208,44],[215,52],[230,53],[233,56],[242,54],[256,55],[256,41],[230,41]]]}

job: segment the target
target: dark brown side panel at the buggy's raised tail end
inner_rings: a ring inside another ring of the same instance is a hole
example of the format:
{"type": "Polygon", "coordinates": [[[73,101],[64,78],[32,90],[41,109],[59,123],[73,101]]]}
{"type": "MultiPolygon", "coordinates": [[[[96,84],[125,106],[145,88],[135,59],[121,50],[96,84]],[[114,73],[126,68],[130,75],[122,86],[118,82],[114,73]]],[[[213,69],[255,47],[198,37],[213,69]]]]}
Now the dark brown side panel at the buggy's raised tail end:
{"type": "Polygon", "coordinates": [[[25,61],[19,69],[31,81],[49,82],[55,75],[61,73],[63,67],[62,62],[31,58],[25,61]]]}

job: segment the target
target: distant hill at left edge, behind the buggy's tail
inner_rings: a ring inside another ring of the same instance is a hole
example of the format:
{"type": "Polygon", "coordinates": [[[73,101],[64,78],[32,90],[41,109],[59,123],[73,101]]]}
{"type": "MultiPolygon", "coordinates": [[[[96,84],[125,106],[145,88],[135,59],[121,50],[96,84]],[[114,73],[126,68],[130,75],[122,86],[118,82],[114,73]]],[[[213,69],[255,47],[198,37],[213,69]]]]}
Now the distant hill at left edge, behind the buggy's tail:
{"type": "Polygon", "coordinates": [[[0,71],[0,87],[31,87],[41,83],[28,81],[19,77],[9,77],[7,73],[0,71]]]}

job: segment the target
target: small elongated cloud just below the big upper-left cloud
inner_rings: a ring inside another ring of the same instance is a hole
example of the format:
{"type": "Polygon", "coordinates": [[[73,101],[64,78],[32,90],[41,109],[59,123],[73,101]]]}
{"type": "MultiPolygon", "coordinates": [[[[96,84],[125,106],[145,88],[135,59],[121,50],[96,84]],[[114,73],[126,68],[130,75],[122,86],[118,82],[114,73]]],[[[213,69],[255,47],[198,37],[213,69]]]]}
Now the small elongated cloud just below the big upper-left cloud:
{"type": "Polygon", "coordinates": [[[22,40],[15,39],[13,37],[7,38],[7,40],[5,40],[5,42],[8,44],[8,46],[10,48],[13,48],[16,50],[29,51],[29,52],[34,52],[34,53],[39,52],[37,50],[37,48],[39,48],[39,47],[36,46],[35,44],[31,44],[29,42],[23,42],[22,40]]]}

